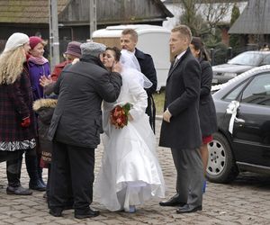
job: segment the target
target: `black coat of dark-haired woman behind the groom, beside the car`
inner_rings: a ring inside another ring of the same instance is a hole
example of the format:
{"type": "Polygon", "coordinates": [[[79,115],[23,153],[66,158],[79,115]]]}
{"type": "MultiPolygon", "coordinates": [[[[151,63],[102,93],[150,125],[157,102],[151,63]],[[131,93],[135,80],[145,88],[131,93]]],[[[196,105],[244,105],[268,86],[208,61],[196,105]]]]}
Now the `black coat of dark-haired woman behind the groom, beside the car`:
{"type": "Polygon", "coordinates": [[[212,70],[208,61],[200,61],[202,67],[199,117],[202,136],[209,136],[218,130],[216,109],[211,97],[212,70]]]}

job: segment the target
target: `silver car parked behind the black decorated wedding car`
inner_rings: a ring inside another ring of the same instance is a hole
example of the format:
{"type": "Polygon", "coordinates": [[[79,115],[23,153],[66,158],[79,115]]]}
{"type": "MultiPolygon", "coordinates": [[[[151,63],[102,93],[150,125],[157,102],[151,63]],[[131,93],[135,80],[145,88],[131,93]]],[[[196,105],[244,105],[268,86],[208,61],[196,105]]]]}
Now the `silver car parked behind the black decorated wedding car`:
{"type": "Polygon", "coordinates": [[[270,50],[248,50],[231,58],[228,63],[213,66],[213,85],[226,83],[247,70],[270,64],[270,50]]]}

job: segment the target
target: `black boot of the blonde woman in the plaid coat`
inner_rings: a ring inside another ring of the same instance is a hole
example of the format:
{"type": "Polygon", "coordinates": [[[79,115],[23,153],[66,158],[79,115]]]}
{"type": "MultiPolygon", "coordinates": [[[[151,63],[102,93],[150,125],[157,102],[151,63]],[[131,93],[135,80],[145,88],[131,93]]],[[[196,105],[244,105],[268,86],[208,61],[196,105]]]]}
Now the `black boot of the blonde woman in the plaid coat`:
{"type": "Polygon", "coordinates": [[[24,188],[21,185],[21,169],[22,169],[22,156],[17,159],[6,161],[6,176],[8,186],[6,188],[7,194],[16,195],[31,195],[31,190],[24,188]]]}

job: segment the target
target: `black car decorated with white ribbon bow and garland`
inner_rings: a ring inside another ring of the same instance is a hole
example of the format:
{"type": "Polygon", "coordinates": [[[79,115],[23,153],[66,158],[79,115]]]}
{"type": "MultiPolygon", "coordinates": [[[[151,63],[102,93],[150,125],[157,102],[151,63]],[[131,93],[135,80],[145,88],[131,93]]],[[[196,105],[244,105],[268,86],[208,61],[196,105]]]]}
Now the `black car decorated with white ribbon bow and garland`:
{"type": "Polygon", "coordinates": [[[207,178],[228,183],[239,171],[270,174],[270,66],[212,86],[219,130],[209,144],[207,178]]]}

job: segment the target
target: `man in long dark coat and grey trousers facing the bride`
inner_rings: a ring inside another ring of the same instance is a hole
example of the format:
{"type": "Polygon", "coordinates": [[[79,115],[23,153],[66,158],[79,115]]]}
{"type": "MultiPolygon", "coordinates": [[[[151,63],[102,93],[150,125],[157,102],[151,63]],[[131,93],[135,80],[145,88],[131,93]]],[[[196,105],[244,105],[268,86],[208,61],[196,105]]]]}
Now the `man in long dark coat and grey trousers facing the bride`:
{"type": "Polygon", "coordinates": [[[160,146],[171,148],[177,172],[175,196],[159,204],[180,206],[177,213],[202,211],[202,134],[198,116],[201,67],[189,49],[191,40],[191,31],[185,25],[171,31],[170,49],[175,62],[166,80],[159,142],[160,146]]]}

